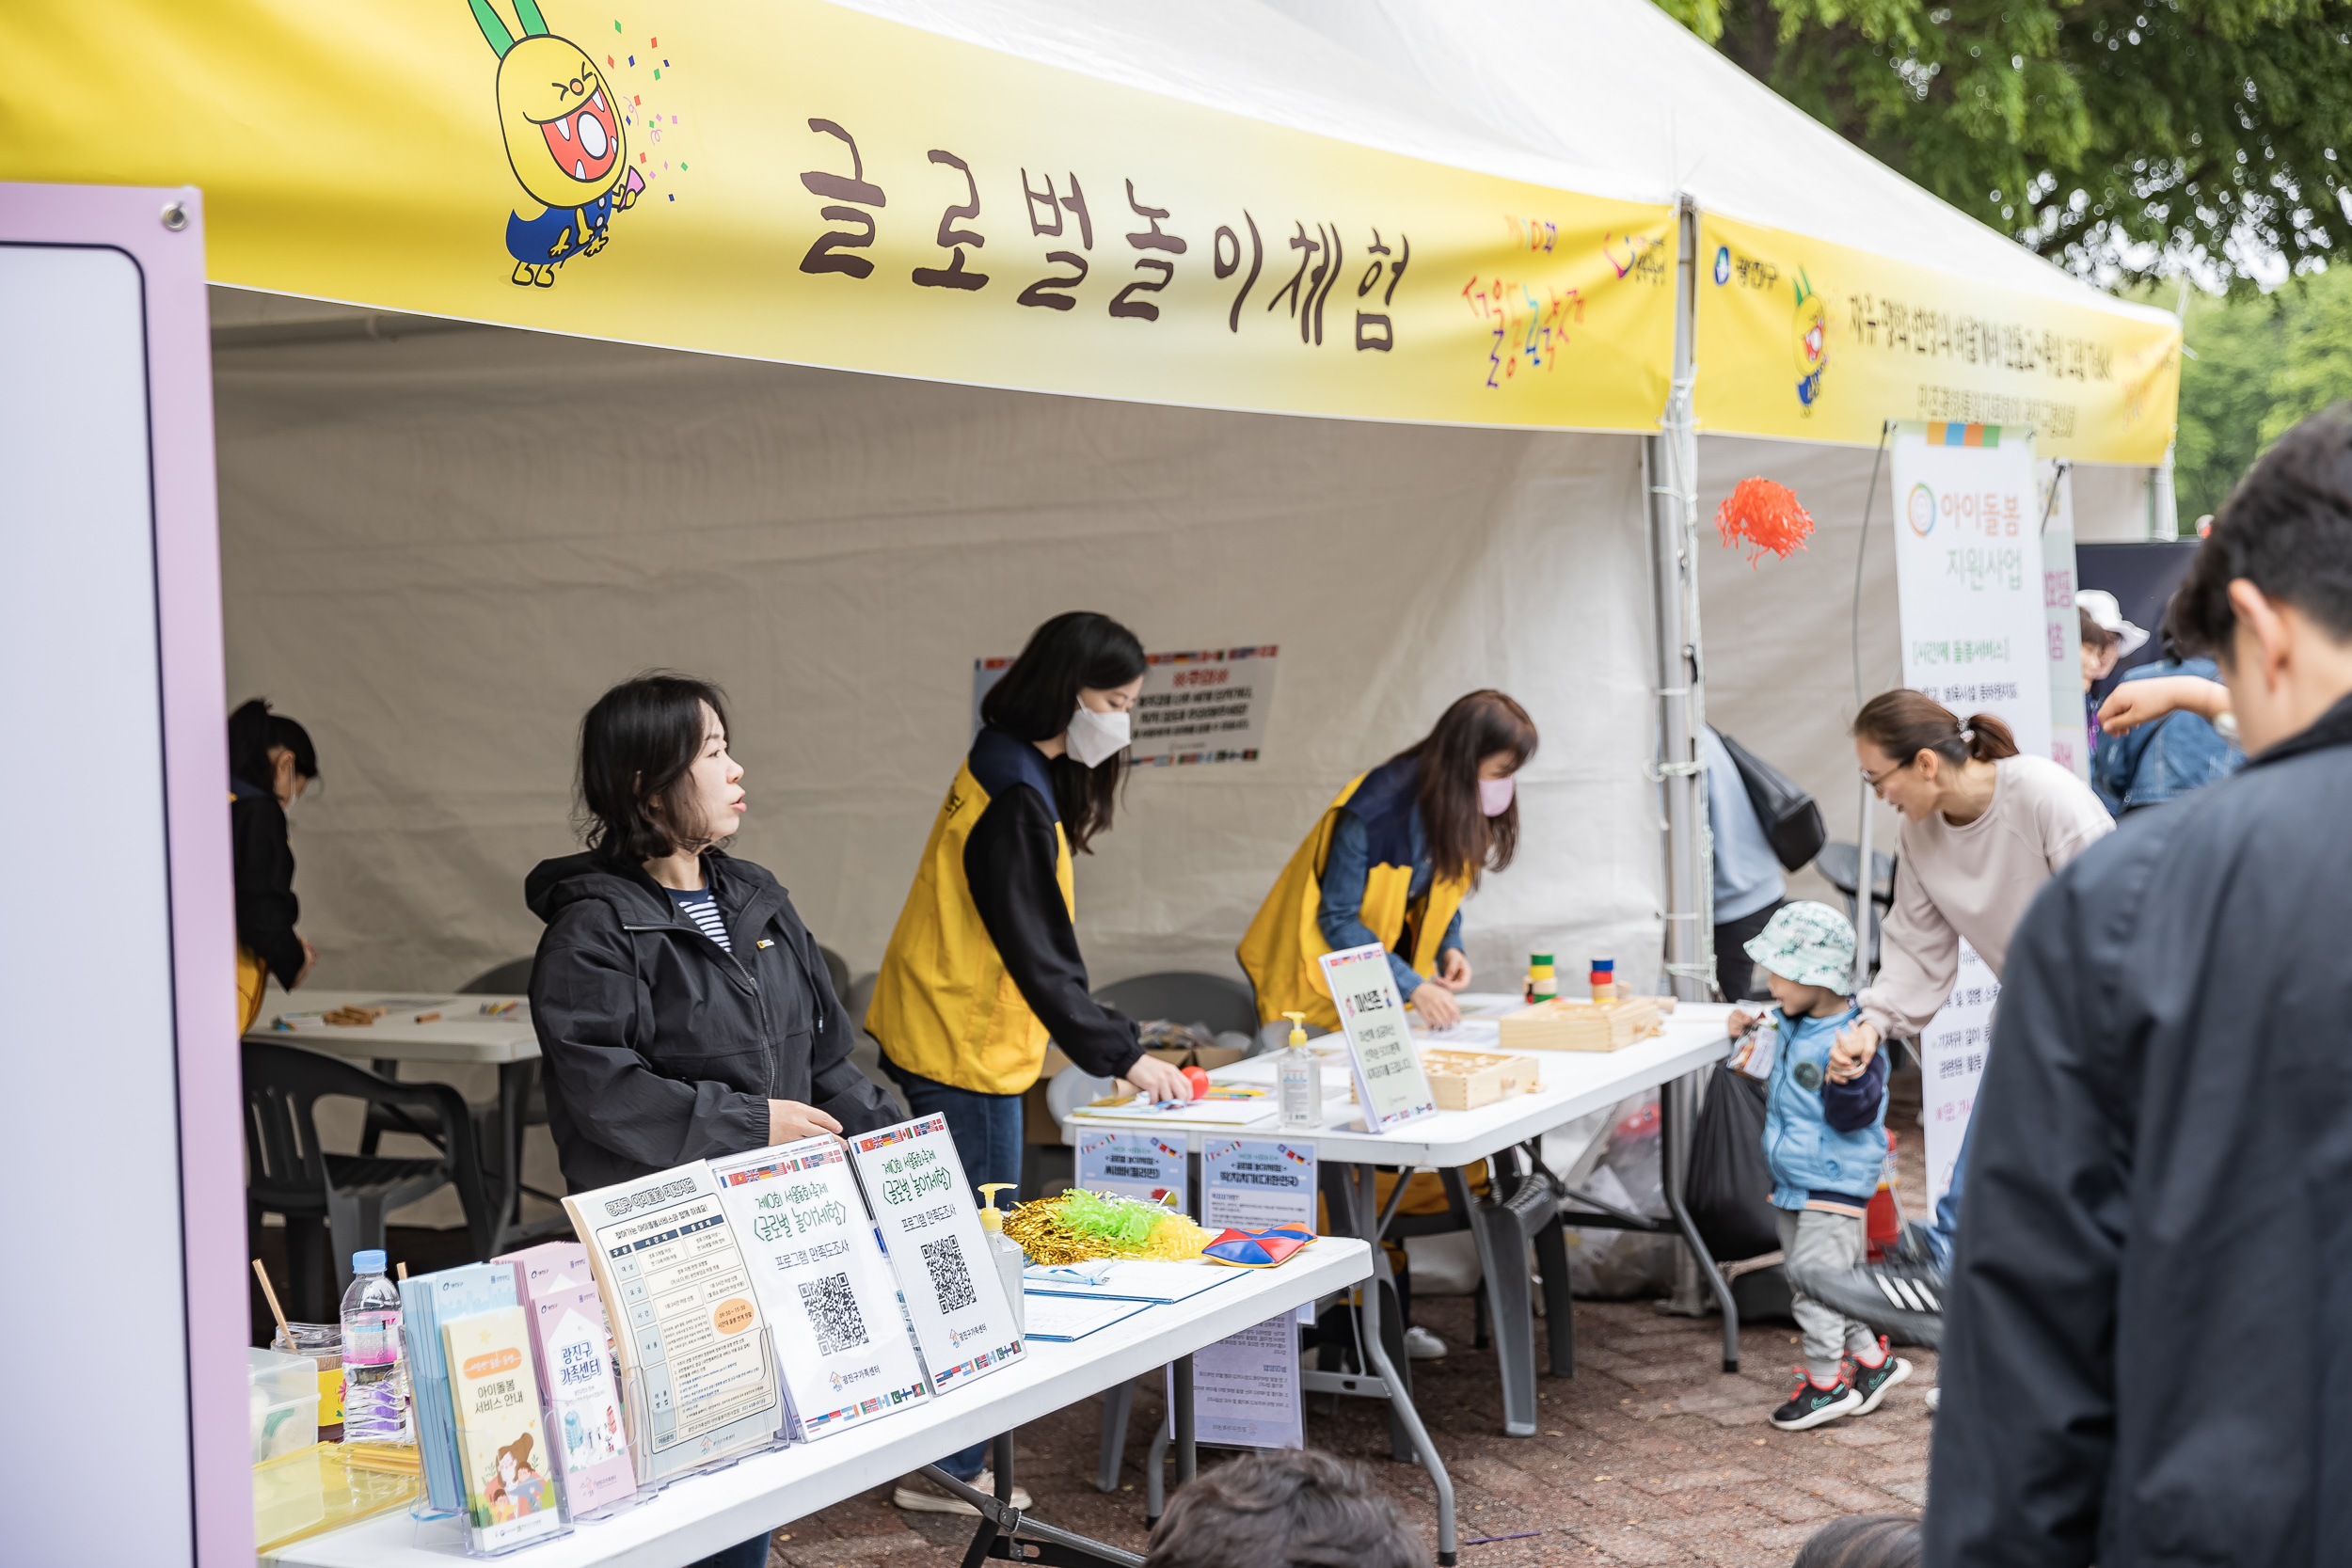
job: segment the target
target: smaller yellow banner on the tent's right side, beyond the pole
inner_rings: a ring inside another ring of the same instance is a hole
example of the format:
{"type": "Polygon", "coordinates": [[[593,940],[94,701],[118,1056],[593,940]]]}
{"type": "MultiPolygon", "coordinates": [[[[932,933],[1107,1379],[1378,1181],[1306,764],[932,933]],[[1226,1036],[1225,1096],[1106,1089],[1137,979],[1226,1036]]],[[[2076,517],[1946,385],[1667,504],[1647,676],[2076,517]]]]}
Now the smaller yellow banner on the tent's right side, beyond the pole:
{"type": "Polygon", "coordinates": [[[1886,418],[2032,425],[2034,449],[2157,463],[2180,324],[1703,216],[1698,428],[1875,444],[1886,418]]]}

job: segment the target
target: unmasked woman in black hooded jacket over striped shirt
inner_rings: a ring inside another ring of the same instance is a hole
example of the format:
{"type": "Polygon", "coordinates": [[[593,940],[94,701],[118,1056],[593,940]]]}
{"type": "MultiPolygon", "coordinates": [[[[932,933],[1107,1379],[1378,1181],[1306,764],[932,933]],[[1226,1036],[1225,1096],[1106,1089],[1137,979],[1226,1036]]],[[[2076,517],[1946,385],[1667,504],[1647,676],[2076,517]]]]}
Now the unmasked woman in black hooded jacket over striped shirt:
{"type": "Polygon", "coordinates": [[[746,795],[717,686],[614,686],[579,769],[588,851],[524,882],[548,922],[532,1025],[572,1190],[896,1121],[790,896],[720,849],[746,795]]]}

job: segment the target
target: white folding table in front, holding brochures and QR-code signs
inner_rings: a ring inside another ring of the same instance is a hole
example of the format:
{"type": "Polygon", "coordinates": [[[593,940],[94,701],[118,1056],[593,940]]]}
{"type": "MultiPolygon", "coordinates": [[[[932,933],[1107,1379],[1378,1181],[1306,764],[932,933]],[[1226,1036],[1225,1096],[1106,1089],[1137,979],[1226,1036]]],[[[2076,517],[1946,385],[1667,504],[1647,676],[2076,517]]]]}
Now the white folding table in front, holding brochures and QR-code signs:
{"type": "MultiPolygon", "coordinates": [[[[1214,1291],[1148,1307],[1070,1345],[1030,1340],[1021,1361],[978,1382],[816,1443],[755,1453],[739,1465],[687,1476],[614,1519],[583,1523],[572,1535],[522,1547],[503,1561],[513,1568],[677,1568],[993,1436],[997,1497],[971,1493],[983,1509],[964,1559],[971,1568],[983,1556],[1021,1556],[1056,1568],[1141,1568],[1143,1559],[1134,1552],[1058,1530],[1004,1502],[1014,1483],[1011,1432],[1077,1399],[1131,1382],[1164,1366],[1174,1352],[1176,1474],[1190,1479],[1192,1352],[1296,1312],[1319,1295],[1345,1291],[1369,1274],[1369,1244],[1324,1237],[1282,1267],[1237,1272],[1214,1291]]],[[[299,1540],[266,1561],[282,1568],[449,1568],[461,1559],[463,1537],[454,1519],[414,1521],[388,1514],[299,1540]]]]}

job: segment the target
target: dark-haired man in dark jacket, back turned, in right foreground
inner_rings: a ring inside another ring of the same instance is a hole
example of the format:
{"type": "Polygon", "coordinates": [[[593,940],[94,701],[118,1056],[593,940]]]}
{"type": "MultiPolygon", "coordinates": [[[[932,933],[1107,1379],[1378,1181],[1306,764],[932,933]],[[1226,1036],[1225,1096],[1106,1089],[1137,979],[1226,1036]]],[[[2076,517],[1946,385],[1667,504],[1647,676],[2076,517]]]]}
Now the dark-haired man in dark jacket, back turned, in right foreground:
{"type": "Polygon", "coordinates": [[[1945,1298],[1929,1563],[2345,1549],[2345,411],[2253,465],[2171,630],[2220,661],[2251,759],[2133,811],[2009,950],[1945,1298]]]}

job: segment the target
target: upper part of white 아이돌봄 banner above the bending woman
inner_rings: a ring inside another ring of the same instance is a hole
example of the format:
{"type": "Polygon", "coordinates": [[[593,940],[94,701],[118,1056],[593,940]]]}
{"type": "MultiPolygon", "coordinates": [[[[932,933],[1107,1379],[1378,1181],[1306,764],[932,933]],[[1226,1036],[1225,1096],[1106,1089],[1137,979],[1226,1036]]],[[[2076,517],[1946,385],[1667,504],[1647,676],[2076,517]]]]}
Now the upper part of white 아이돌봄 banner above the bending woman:
{"type": "Polygon", "coordinates": [[[1903,423],[1893,484],[1903,684],[1964,719],[1990,712],[2018,750],[2049,757],[2056,665],[2032,430],[1903,423]]]}

